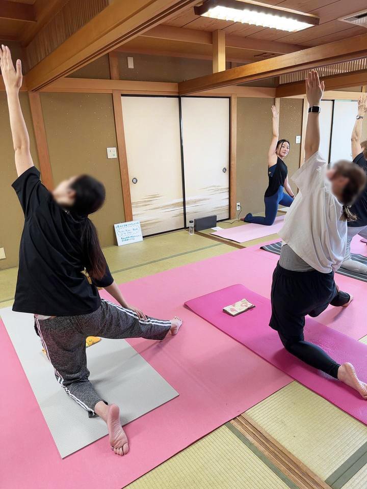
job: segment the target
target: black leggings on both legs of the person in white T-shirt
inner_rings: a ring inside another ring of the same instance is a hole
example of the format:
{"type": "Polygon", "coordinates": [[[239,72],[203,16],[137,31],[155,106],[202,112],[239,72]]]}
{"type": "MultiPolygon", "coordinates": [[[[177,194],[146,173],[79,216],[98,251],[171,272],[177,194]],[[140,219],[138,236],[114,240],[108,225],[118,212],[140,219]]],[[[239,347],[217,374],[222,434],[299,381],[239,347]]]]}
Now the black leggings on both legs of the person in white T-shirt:
{"type": "MultiPolygon", "coordinates": [[[[350,295],[341,290],[336,293],[335,297],[331,301],[331,305],[335,307],[343,306],[350,300],[350,295]]],[[[325,309],[325,308],[323,308],[325,309]]],[[[312,317],[318,316],[322,311],[314,310],[309,315],[312,317]]],[[[278,332],[279,338],[284,345],[284,348],[292,355],[307,363],[311,367],[322,370],[323,372],[337,378],[337,372],[340,365],[335,362],[320,346],[309,343],[302,338],[285,338],[280,332],[278,332]]]]}

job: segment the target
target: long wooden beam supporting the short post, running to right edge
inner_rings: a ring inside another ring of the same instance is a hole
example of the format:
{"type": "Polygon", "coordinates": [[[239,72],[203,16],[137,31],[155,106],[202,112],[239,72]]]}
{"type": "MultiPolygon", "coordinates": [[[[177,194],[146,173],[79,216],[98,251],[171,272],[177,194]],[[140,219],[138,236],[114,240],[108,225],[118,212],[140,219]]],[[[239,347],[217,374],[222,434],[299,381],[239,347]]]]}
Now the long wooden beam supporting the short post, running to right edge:
{"type": "Polygon", "coordinates": [[[355,60],[365,56],[367,56],[367,34],[362,34],[342,41],[310,47],[269,60],[187,80],[179,83],[178,90],[180,95],[187,95],[218,87],[256,82],[273,76],[355,60]]]}

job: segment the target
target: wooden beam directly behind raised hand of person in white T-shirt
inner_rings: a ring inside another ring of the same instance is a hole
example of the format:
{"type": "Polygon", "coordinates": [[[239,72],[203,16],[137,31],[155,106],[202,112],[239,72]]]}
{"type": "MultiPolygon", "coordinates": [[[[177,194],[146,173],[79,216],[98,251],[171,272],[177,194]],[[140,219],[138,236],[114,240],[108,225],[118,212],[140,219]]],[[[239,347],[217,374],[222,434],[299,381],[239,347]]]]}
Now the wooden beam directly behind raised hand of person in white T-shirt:
{"type": "MultiPolygon", "coordinates": [[[[324,76],[325,90],[338,90],[340,88],[358,87],[367,84],[367,71],[355,73],[340,73],[339,75],[324,76]]],[[[305,82],[295,82],[280,85],[276,91],[277,97],[292,97],[306,93],[305,82]]]]}

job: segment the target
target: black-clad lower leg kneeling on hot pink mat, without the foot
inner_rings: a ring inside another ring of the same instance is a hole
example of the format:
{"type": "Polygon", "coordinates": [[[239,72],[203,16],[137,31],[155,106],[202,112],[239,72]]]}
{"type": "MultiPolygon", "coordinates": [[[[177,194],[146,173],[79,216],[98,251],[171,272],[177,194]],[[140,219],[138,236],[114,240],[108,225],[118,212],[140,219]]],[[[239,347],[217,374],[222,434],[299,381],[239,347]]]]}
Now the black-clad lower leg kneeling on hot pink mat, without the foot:
{"type": "Polygon", "coordinates": [[[281,333],[278,333],[284,348],[292,355],[307,363],[311,367],[322,370],[323,372],[338,378],[338,368],[340,365],[335,362],[329,355],[319,346],[309,343],[301,338],[285,338],[281,333]]]}

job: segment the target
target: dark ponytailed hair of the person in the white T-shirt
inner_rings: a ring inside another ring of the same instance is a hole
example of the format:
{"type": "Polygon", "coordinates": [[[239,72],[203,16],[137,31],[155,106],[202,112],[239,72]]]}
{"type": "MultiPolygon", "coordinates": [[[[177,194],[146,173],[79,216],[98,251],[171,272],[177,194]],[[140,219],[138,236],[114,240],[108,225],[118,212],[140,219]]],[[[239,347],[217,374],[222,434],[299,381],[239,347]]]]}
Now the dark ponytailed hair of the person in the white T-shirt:
{"type": "Polygon", "coordinates": [[[350,207],[356,201],[359,194],[366,185],[365,172],[351,161],[341,160],[334,165],[334,176],[348,178],[348,183],[343,188],[341,203],[343,204],[343,215],[346,221],[356,221],[357,216],[351,212],[350,207]]]}

